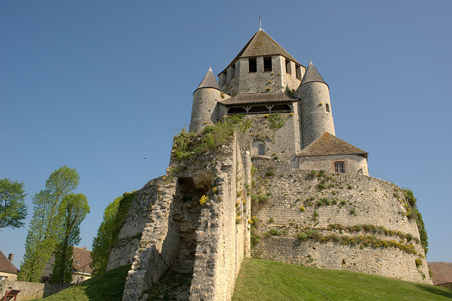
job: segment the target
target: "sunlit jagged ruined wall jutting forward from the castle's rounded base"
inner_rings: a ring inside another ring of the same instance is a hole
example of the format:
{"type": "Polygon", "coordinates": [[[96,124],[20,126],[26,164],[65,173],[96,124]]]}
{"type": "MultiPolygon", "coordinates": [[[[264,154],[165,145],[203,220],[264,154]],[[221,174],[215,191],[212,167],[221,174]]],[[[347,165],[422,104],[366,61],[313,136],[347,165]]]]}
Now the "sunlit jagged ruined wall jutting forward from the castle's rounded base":
{"type": "Polygon", "coordinates": [[[237,141],[223,147],[213,194],[203,207],[196,231],[196,261],[190,300],[230,300],[244,256],[249,256],[250,202],[245,185],[251,161],[242,161],[237,141]]]}

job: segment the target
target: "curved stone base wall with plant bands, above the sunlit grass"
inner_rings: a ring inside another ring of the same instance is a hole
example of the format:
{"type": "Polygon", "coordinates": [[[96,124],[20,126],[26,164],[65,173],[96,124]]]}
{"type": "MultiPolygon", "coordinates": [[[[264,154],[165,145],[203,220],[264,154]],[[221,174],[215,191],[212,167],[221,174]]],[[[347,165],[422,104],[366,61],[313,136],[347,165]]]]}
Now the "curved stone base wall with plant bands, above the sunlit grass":
{"type": "Polygon", "coordinates": [[[260,238],[254,257],[432,283],[417,224],[396,185],[261,159],[253,170],[260,238]]]}

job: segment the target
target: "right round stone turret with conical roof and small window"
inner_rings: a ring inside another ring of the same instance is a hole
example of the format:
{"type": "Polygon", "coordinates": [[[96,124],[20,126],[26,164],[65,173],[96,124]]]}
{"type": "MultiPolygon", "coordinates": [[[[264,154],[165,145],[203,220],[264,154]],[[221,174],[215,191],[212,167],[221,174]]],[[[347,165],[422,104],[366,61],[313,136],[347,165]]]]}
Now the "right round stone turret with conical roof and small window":
{"type": "Polygon", "coordinates": [[[311,60],[294,96],[301,99],[302,148],[323,133],[335,135],[329,88],[311,60]]]}

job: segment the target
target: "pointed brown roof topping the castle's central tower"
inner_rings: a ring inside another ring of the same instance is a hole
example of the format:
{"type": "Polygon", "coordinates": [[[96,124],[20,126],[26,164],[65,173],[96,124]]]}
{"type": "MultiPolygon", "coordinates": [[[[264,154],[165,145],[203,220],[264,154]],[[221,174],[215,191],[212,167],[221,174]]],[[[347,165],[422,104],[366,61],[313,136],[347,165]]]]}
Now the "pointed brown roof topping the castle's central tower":
{"type": "MultiPolygon", "coordinates": [[[[272,39],[267,32],[263,31],[262,28],[254,34],[253,37],[246,43],[245,47],[237,54],[237,56],[232,60],[232,62],[225,68],[230,68],[239,59],[249,58],[254,56],[274,56],[280,55],[284,56],[290,61],[301,65],[293,56],[291,56],[283,47],[280,46],[274,39],[272,39]]],[[[225,72],[222,70],[221,73],[225,72]]],[[[220,73],[220,74],[221,74],[220,73]]]]}

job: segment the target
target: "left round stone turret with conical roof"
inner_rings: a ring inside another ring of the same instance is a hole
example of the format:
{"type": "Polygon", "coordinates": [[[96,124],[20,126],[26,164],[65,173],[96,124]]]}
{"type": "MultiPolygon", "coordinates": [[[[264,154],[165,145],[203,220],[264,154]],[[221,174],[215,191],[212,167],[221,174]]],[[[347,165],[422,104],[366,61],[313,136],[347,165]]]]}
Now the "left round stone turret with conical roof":
{"type": "Polygon", "coordinates": [[[217,101],[222,98],[224,96],[222,96],[212,68],[209,68],[201,84],[193,93],[190,132],[201,132],[206,125],[213,125],[218,121],[217,101]]]}

